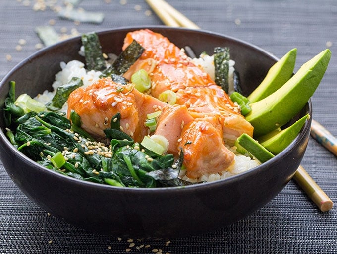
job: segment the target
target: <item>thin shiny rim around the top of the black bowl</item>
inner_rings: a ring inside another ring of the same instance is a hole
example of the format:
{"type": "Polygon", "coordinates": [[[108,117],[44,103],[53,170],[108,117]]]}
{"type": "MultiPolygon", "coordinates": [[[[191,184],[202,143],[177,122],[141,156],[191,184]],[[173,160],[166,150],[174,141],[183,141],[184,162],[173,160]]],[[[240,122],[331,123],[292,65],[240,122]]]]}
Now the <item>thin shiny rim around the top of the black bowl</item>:
{"type": "MultiPolygon", "coordinates": [[[[219,38],[225,38],[228,39],[230,41],[233,41],[235,43],[239,43],[241,45],[247,46],[249,48],[254,49],[255,51],[259,51],[260,53],[272,58],[275,61],[278,61],[279,58],[276,57],[275,55],[273,55],[272,53],[260,48],[259,46],[256,46],[254,44],[251,44],[247,41],[243,41],[241,39],[226,35],[226,34],[221,34],[218,32],[213,32],[213,31],[209,31],[209,30],[204,30],[204,29],[190,29],[190,28],[182,28],[182,27],[168,27],[168,26],[157,26],[157,25],[149,25],[149,26],[122,26],[122,27],[116,27],[116,28],[112,28],[112,29],[103,29],[103,30],[97,30],[95,31],[95,33],[97,33],[99,36],[100,35],[104,35],[104,34],[109,34],[109,33],[119,33],[119,32],[126,32],[126,31],[132,31],[132,30],[139,30],[139,29],[154,29],[154,30],[165,30],[165,31],[186,31],[186,32],[193,32],[193,33],[198,33],[198,34],[203,34],[203,35],[208,35],[208,36],[215,36],[215,37],[219,37],[219,38]]],[[[39,51],[34,52],[33,54],[29,55],[28,57],[25,57],[23,60],[21,60],[18,64],[16,64],[0,81],[0,89],[1,87],[8,85],[8,81],[7,80],[13,73],[15,73],[15,71],[19,68],[21,68],[22,66],[24,66],[26,63],[32,61],[32,59],[34,59],[35,57],[44,54],[48,51],[50,51],[52,48],[54,47],[60,47],[63,44],[68,44],[68,43],[73,43],[75,41],[80,40],[81,35],[76,36],[76,37],[72,37],[69,39],[66,39],[64,41],[58,42],[56,44],[53,44],[51,46],[47,46],[39,51]]],[[[312,103],[311,103],[311,99],[309,99],[308,101],[308,113],[309,115],[312,115],[312,103]]],[[[2,108],[1,108],[2,110],[2,108]]],[[[209,188],[213,188],[213,187],[218,187],[221,186],[223,184],[226,183],[232,183],[237,181],[238,179],[241,178],[247,178],[250,177],[253,174],[256,174],[256,172],[260,172],[263,171],[266,167],[271,166],[272,164],[275,163],[276,160],[279,159],[283,159],[288,153],[291,152],[292,149],[294,149],[294,147],[300,143],[300,141],[302,139],[305,138],[305,134],[307,133],[308,129],[310,129],[310,121],[306,121],[304,126],[302,127],[302,130],[300,131],[299,135],[297,135],[297,137],[291,142],[291,144],[284,149],[282,152],[280,152],[279,154],[277,154],[275,157],[273,157],[272,159],[264,162],[261,165],[258,165],[254,168],[251,168],[247,171],[241,172],[239,174],[236,175],[232,175],[229,176],[225,179],[220,179],[220,180],[216,180],[216,181],[212,181],[212,182],[205,182],[202,184],[193,184],[193,185],[188,185],[188,186],[175,186],[175,187],[155,187],[155,188],[145,188],[145,187],[116,187],[116,186],[111,186],[111,185],[105,185],[105,184],[100,184],[100,183],[94,183],[94,182],[89,182],[89,181],[84,181],[84,180],[79,180],[76,178],[72,178],[69,176],[64,176],[62,174],[59,174],[57,172],[54,172],[52,170],[48,170],[45,167],[39,165],[36,161],[30,159],[28,156],[24,155],[22,152],[19,152],[11,143],[10,141],[7,139],[4,131],[2,130],[2,128],[0,128],[0,142],[2,143],[1,146],[5,146],[7,151],[14,153],[16,156],[20,157],[20,159],[22,160],[26,160],[27,163],[29,163],[31,166],[33,166],[36,170],[43,170],[43,173],[46,174],[52,174],[53,176],[55,176],[56,178],[69,182],[69,184],[73,183],[73,184],[77,184],[77,185],[81,185],[81,186],[88,186],[91,188],[97,188],[97,189],[102,189],[102,190],[106,190],[106,191],[121,191],[121,192],[146,192],[146,193],[153,193],[153,192],[159,192],[159,193],[171,193],[171,192],[186,192],[186,191],[194,191],[195,189],[197,190],[203,190],[203,189],[209,189],[209,188]]],[[[6,168],[5,168],[6,170],[6,168]]],[[[294,171],[295,172],[295,171],[294,171]]]]}

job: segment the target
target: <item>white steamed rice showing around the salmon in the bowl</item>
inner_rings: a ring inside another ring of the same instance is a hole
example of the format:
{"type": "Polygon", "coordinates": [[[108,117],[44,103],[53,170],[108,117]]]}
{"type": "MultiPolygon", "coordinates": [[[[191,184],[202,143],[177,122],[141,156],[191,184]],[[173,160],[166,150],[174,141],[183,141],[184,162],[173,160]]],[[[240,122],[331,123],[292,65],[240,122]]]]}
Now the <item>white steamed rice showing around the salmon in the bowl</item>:
{"type": "MultiPolygon", "coordinates": [[[[199,58],[194,58],[192,59],[192,61],[197,66],[204,69],[204,71],[207,72],[211,76],[211,78],[214,80],[215,71],[214,71],[213,56],[203,53],[200,55],[199,58]]],[[[235,62],[233,60],[230,60],[229,62],[229,94],[233,92],[234,64],[235,62]]],[[[69,82],[71,78],[73,77],[81,78],[83,81],[83,86],[87,87],[87,86],[92,85],[94,82],[96,82],[99,79],[99,76],[102,74],[100,71],[94,71],[94,70],[87,71],[84,68],[85,64],[78,60],[72,60],[72,61],[69,61],[68,63],[61,62],[60,67],[61,67],[61,71],[59,71],[55,75],[55,81],[52,85],[54,90],[44,91],[42,94],[37,95],[34,98],[35,100],[46,104],[47,102],[50,102],[53,99],[57,87],[69,82]]],[[[63,112],[67,111],[67,103],[65,103],[61,111],[63,112]]],[[[198,181],[212,182],[212,181],[216,181],[220,179],[225,179],[232,175],[239,174],[253,167],[256,167],[260,164],[258,160],[255,160],[253,158],[250,158],[249,156],[245,156],[245,155],[237,153],[235,147],[231,147],[229,149],[232,152],[234,152],[235,160],[229,168],[225,169],[221,173],[203,175],[198,179],[190,179],[186,176],[185,171],[181,171],[180,177],[183,180],[190,181],[190,182],[198,182],[198,181]]]]}

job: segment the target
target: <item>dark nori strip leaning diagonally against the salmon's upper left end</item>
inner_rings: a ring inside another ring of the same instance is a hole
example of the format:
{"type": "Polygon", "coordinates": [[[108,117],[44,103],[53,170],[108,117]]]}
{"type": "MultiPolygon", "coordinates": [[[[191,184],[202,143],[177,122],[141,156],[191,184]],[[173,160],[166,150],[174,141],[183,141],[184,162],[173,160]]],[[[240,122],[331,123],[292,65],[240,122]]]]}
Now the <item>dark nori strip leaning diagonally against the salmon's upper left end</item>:
{"type": "Polygon", "coordinates": [[[117,74],[122,76],[132,64],[142,55],[144,48],[135,40],[122,51],[117,59],[107,69],[103,71],[103,77],[117,74]]]}

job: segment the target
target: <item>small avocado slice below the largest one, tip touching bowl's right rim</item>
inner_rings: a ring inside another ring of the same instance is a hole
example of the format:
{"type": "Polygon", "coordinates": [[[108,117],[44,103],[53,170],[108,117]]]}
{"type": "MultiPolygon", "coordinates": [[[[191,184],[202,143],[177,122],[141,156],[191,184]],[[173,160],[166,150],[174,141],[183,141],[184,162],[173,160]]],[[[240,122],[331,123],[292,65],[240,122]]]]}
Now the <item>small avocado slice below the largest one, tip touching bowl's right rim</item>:
{"type": "Polygon", "coordinates": [[[290,125],[288,128],[281,130],[277,129],[266,135],[259,137],[257,140],[269,152],[278,154],[285,149],[298,135],[305,121],[309,119],[309,114],[306,114],[301,119],[290,125]]]}

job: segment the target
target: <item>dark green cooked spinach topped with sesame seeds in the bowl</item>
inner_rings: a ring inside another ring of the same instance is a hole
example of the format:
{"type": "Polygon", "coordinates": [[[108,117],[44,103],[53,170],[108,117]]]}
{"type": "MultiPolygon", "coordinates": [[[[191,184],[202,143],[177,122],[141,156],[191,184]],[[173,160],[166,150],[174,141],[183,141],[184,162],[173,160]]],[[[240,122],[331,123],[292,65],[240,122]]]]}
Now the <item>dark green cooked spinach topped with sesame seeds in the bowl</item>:
{"type": "Polygon", "coordinates": [[[15,82],[5,101],[7,136],[17,149],[49,170],[76,179],[113,186],[164,187],[191,184],[178,178],[183,153],[158,155],[121,132],[120,113],[105,130],[110,142],[94,141],[81,129],[81,118],[72,112],[70,120],[57,112],[23,113],[14,105],[15,82]],[[10,130],[9,130],[10,129],[10,130]],[[56,155],[64,157],[60,167],[56,155]]]}

